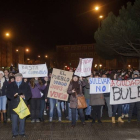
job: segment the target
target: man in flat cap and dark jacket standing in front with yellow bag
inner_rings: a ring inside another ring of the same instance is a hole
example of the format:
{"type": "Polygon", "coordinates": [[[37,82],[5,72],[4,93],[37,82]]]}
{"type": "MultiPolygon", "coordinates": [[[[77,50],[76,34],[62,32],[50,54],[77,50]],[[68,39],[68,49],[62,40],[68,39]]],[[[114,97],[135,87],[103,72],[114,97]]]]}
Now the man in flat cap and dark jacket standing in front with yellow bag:
{"type": "Polygon", "coordinates": [[[11,100],[11,121],[12,121],[12,138],[16,138],[18,135],[26,137],[25,135],[25,118],[20,119],[13,109],[17,108],[21,97],[25,103],[31,98],[31,90],[28,84],[22,81],[22,74],[15,74],[15,82],[8,85],[7,98],[11,100]],[[19,131],[18,131],[19,123],[19,131]]]}

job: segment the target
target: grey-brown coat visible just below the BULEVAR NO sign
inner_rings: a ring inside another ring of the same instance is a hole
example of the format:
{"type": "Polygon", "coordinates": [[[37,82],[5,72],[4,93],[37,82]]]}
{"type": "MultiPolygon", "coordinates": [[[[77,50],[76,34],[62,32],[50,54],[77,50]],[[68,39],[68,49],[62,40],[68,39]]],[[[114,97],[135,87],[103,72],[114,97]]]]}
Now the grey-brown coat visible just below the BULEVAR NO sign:
{"type": "Polygon", "coordinates": [[[105,105],[104,95],[103,94],[91,94],[90,95],[90,105],[105,105]]]}

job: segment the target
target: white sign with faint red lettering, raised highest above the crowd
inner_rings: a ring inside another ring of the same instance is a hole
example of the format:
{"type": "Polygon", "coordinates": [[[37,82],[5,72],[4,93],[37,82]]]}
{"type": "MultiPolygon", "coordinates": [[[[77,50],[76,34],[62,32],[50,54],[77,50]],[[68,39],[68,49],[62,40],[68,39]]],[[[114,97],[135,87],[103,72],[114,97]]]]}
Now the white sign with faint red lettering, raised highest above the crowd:
{"type": "Polygon", "coordinates": [[[81,76],[89,76],[91,75],[91,69],[92,69],[92,62],[93,58],[80,58],[79,65],[75,71],[75,75],[81,77],[81,76]]]}

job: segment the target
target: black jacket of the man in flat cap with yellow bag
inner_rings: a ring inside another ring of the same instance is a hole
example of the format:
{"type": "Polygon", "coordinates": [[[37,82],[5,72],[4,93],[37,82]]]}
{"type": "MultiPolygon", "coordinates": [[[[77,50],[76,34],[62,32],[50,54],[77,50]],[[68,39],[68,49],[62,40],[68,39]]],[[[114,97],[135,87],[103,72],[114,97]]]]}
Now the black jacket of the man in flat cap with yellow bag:
{"type": "Polygon", "coordinates": [[[27,103],[27,101],[31,98],[31,90],[30,90],[30,87],[27,83],[25,82],[22,82],[21,85],[17,86],[16,82],[12,82],[8,85],[7,87],[7,98],[9,98],[11,100],[11,106],[10,106],[10,109],[11,109],[11,114],[16,114],[13,109],[15,109],[19,102],[20,102],[20,98],[19,96],[17,97],[14,97],[14,95],[18,93],[18,94],[21,94],[23,93],[23,95],[25,96],[25,103],[27,103]]]}

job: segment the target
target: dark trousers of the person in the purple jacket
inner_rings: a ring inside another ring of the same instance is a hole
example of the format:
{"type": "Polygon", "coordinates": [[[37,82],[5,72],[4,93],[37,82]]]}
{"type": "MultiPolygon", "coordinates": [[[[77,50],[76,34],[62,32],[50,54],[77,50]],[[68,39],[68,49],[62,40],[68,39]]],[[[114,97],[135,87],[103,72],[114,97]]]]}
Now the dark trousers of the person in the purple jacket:
{"type": "Polygon", "coordinates": [[[31,99],[31,119],[39,119],[40,115],[40,98],[32,98],[31,99]]]}

